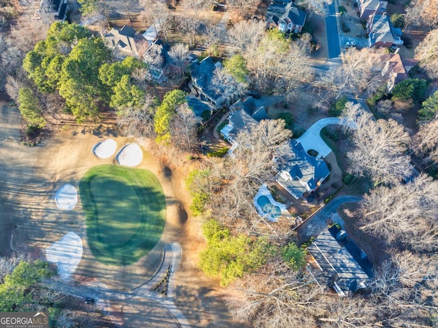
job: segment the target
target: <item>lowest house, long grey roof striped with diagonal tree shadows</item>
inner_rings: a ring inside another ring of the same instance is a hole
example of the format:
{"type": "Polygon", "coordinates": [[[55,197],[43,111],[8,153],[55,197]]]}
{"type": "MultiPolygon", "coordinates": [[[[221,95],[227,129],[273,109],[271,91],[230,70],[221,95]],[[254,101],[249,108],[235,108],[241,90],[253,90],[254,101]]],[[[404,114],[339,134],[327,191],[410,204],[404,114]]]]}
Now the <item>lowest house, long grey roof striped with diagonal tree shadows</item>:
{"type": "MultiPolygon", "coordinates": [[[[333,225],[307,247],[314,264],[322,271],[319,281],[333,287],[345,297],[367,288],[372,275],[372,264],[357,245],[347,238],[346,232],[333,225]]],[[[310,266],[309,266],[310,268],[310,266]]]]}

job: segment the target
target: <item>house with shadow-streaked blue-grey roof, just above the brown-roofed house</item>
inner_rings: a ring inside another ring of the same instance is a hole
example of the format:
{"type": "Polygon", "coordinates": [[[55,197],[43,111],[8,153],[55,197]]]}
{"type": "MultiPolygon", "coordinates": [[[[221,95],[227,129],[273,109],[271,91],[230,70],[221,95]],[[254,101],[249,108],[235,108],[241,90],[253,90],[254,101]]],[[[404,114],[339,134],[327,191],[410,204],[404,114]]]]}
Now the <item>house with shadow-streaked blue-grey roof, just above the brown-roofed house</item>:
{"type": "Polygon", "coordinates": [[[368,47],[398,47],[403,44],[402,30],[393,27],[386,14],[372,14],[367,22],[368,47]]]}

